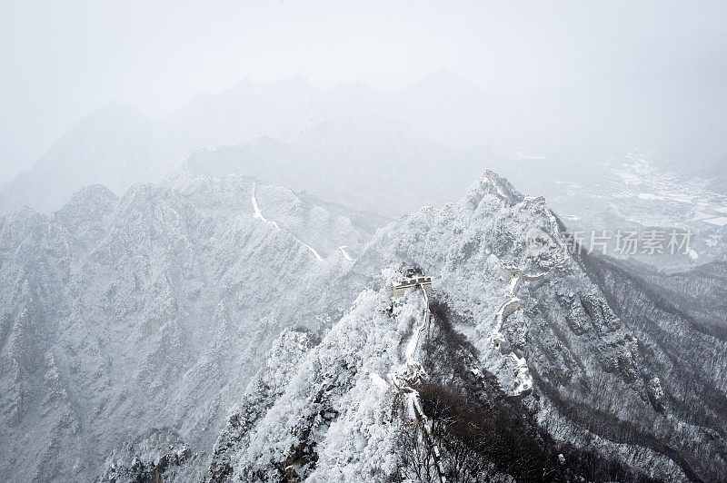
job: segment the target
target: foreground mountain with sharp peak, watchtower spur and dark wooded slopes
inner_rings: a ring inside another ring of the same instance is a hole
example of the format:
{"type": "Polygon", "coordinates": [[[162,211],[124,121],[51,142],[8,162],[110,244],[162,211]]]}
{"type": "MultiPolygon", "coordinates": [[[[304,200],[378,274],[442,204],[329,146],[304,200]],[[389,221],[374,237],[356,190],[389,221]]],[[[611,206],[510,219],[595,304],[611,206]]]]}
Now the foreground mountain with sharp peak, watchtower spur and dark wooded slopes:
{"type": "MultiPolygon", "coordinates": [[[[464,370],[424,370],[417,384],[422,390],[440,384],[463,400],[487,401],[496,414],[519,414],[508,428],[522,428],[518,438],[537,435],[531,463],[549,468],[536,478],[480,449],[474,469],[481,473],[473,478],[501,473],[525,479],[721,478],[726,468],[724,411],[717,400],[724,390],[722,377],[705,376],[711,395],[690,390],[682,409],[669,402],[693,384],[691,372],[680,370],[675,358],[693,356],[702,343],[715,340],[689,329],[689,317],[662,320],[652,299],[614,289],[627,278],[607,271],[612,276],[607,281],[593,261],[566,250],[560,230],[542,200],[524,198],[503,179],[485,173],[460,202],[443,210],[423,209],[377,232],[342,275],[339,290],[376,288],[381,268],[402,261],[433,277],[435,299],[447,307],[445,319],[460,334],[450,342],[453,354],[468,355],[459,362],[443,356],[445,366],[464,370]],[[528,235],[533,229],[540,233],[534,247],[528,235]],[[648,311],[656,312],[642,317],[648,311]],[[675,350],[676,340],[670,346],[654,333],[696,339],[675,350]],[[494,380],[484,388],[463,374],[494,380]],[[707,414],[687,414],[683,409],[690,404],[705,405],[707,414]]],[[[389,314],[387,304],[381,292],[364,292],[324,342],[301,356],[299,370],[285,375],[284,389],[265,393],[251,385],[242,404],[246,408],[248,401],[258,401],[256,409],[252,416],[245,413],[244,424],[238,424],[240,412],[233,414],[216,444],[210,478],[325,480],[366,474],[386,480],[401,475],[397,471],[411,458],[392,435],[409,423],[397,412],[401,394],[387,375],[406,360],[403,347],[420,312],[399,307],[389,314]],[[355,448],[347,447],[351,444],[355,448]]],[[[712,374],[723,374],[719,346],[709,351],[712,374]]],[[[427,352],[420,357],[426,359],[427,352]]],[[[432,389],[427,390],[431,396],[432,389]]],[[[441,396],[433,394],[430,402],[441,396]]],[[[424,416],[436,416],[436,411],[427,414],[423,401],[424,416]]],[[[479,414],[483,409],[471,410],[479,414]]],[[[452,436],[457,434],[447,429],[436,438],[451,442],[459,440],[452,436]]],[[[455,463],[451,458],[441,469],[449,471],[447,465],[455,463]]],[[[438,465],[431,462],[430,469],[438,465]]]]}

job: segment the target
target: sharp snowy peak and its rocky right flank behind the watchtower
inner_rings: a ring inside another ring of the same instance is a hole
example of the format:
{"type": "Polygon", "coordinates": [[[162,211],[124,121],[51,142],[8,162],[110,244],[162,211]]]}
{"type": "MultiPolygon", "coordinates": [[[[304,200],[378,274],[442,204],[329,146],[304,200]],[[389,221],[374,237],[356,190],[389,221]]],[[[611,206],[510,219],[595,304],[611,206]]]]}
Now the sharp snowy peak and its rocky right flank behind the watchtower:
{"type": "MultiPolygon", "coordinates": [[[[566,251],[562,229],[542,200],[526,199],[485,173],[462,201],[423,209],[377,232],[338,279],[337,291],[380,284],[382,267],[422,267],[433,278],[434,293],[456,314],[453,326],[479,351],[479,370],[507,393],[522,383],[518,376],[526,368],[533,387],[521,399],[523,408],[553,444],[592,450],[593,458],[615,465],[599,463],[602,473],[593,478],[618,479],[619,468],[647,479],[715,478],[725,468],[723,456],[715,451],[703,459],[694,444],[720,434],[722,422],[699,429],[693,419],[661,409],[670,385],[689,382],[676,372],[667,383],[652,371],[646,352],[661,349],[644,343],[629,321],[633,313],[612,300],[589,262],[566,251]],[[533,227],[549,239],[535,252],[527,240],[533,227]],[[529,280],[511,285],[503,266],[529,280]],[[498,325],[513,357],[493,345],[498,325]]],[[[292,417],[284,406],[278,410],[283,412],[275,418],[292,417]]],[[[255,454],[269,454],[259,444],[262,453],[255,454]]]]}

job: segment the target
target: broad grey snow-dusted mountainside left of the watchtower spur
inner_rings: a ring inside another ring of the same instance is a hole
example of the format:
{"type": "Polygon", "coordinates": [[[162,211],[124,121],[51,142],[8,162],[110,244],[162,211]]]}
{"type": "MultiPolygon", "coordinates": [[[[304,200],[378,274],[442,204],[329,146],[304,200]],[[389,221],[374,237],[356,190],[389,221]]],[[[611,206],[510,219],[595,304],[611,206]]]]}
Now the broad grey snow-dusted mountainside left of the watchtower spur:
{"type": "Polygon", "coordinates": [[[151,429],[211,448],[277,334],[324,324],[320,281],[377,223],[305,196],[203,177],[0,218],[2,477],[90,479],[151,429]]]}

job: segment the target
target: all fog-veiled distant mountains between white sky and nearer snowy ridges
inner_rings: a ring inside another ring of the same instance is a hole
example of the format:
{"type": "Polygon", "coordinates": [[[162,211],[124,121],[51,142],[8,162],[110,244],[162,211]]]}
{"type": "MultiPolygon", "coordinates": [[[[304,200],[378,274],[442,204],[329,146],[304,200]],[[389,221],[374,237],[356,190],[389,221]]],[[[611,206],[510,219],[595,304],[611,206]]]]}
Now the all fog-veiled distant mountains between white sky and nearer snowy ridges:
{"type": "MultiPolygon", "coordinates": [[[[525,163],[520,158],[538,160],[534,169],[546,174],[577,170],[568,181],[596,185],[604,163],[623,162],[632,153],[680,181],[705,178],[722,192],[727,93],[719,79],[726,67],[723,61],[674,64],[507,96],[486,94],[446,71],[394,92],[364,84],[321,89],[302,76],[274,84],[244,81],[222,94],[199,96],[158,122],[122,105],[107,106],[77,123],[0,196],[5,212],[20,206],[49,212],[85,184],[102,183],[121,194],[134,182],[164,182],[184,163],[199,165],[205,156],[204,168],[195,168],[201,172],[254,170],[263,180],[367,210],[392,205],[385,197],[371,198],[378,179],[413,171],[430,178],[392,181],[403,201],[382,211],[400,215],[452,200],[463,192],[463,180],[483,168],[517,173],[525,163]],[[235,155],[234,149],[246,153],[235,155]],[[291,159],[293,172],[286,168],[281,178],[280,166],[291,159]],[[362,165],[370,173],[362,173],[362,165]],[[356,185],[346,184],[351,181],[356,185]],[[342,187],[347,195],[326,192],[342,187]],[[412,191],[421,194],[407,193],[412,191]]],[[[516,181],[533,192],[549,186],[539,185],[539,176],[516,181]]]]}

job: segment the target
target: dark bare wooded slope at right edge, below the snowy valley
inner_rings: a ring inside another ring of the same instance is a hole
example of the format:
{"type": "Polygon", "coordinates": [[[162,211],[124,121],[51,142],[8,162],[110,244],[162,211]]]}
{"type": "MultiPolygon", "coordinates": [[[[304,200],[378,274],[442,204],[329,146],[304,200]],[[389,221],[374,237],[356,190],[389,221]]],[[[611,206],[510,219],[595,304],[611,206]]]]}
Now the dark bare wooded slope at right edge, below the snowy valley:
{"type": "Polygon", "coordinates": [[[640,377],[659,416],[645,414],[652,424],[639,425],[632,438],[670,454],[692,479],[722,478],[727,455],[722,264],[668,277],[591,257],[584,265],[638,339],[640,377]]]}

